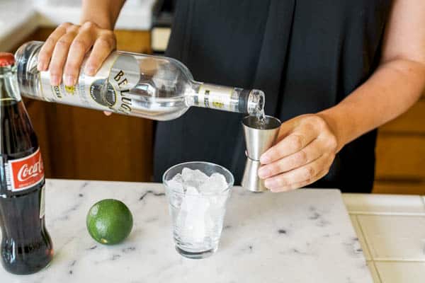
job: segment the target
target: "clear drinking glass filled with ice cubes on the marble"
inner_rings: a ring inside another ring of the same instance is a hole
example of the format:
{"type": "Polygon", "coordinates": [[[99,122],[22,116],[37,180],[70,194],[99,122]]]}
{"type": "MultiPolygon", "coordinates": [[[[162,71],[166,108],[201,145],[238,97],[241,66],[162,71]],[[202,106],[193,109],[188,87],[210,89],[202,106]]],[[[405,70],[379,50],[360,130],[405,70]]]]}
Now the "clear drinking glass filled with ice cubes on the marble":
{"type": "Polygon", "coordinates": [[[187,162],[169,168],[162,180],[169,201],[177,252],[186,258],[206,258],[215,253],[220,242],[226,203],[234,183],[232,173],[214,163],[187,162]],[[177,173],[182,173],[183,168],[198,169],[208,176],[220,173],[224,175],[227,187],[206,193],[186,188],[182,190],[170,180],[177,173]]]}

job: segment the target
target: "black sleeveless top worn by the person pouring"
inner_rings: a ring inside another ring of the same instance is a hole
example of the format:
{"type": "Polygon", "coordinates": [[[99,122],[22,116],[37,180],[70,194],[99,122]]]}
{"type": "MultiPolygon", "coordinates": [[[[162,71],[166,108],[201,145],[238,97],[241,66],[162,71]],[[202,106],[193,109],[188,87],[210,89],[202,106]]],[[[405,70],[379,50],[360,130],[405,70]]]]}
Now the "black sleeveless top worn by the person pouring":
{"type": "MultiPolygon", "coordinates": [[[[179,0],[166,55],[197,81],[266,93],[266,115],[285,121],[339,103],[373,73],[391,0],[179,0]]],[[[176,163],[210,161],[239,184],[244,170],[244,115],[191,108],[159,122],[154,178],[176,163]]],[[[336,156],[310,187],[370,192],[376,131],[336,156]]]]}

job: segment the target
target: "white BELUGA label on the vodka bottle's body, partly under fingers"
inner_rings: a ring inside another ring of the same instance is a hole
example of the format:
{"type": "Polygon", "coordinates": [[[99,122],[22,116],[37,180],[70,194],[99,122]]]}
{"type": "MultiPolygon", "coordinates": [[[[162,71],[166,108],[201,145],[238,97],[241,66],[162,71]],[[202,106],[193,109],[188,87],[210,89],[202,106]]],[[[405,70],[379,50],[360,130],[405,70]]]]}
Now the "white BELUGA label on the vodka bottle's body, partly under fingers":
{"type": "Polygon", "coordinates": [[[84,60],[75,86],[50,85],[50,72],[40,72],[42,98],[68,105],[103,111],[130,114],[132,99],[129,96],[140,80],[137,59],[130,54],[112,53],[95,76],[86,76],[84,60]]]}

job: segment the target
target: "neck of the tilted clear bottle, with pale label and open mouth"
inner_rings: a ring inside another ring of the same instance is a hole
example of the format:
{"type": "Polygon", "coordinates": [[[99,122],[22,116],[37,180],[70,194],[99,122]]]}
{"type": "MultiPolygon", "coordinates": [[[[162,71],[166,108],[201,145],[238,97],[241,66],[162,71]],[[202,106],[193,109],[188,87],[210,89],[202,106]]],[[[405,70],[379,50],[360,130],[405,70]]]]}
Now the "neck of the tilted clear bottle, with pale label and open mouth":
{"type": "Polygon", "coordinates": [[[212,83],[192,82],[189,106],[255,115],[264,108],[264,93],[256,89],[234,88],[212,83]]]}

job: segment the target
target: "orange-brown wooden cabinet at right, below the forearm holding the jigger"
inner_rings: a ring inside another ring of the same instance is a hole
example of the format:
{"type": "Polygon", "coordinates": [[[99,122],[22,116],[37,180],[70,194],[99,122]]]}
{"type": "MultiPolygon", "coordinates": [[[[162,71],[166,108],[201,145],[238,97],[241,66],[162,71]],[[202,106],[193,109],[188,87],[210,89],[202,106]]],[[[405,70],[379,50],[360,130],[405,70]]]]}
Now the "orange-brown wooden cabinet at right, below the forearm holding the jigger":
{"type": "Polygon", "coordinates": [[[425,98],[382,126],[373,192],[425,194],[425,98]]]}

